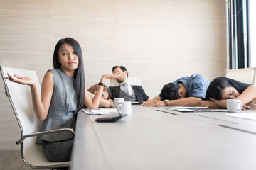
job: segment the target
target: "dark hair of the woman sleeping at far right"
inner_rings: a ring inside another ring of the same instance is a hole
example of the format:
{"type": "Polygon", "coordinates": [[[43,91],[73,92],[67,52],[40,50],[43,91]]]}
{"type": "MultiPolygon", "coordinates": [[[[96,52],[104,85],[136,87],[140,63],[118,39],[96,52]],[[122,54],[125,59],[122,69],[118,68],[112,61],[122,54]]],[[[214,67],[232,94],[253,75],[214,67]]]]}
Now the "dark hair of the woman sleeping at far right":
{"type": "Polygon", "coordinates": [[[234,87],[239,94],[242,94],[242,91],[244,91],[250,85],[251,84],[245,84],[234,79],[229,79],[227,77],[217,77],[210,82],[210,85],[206,91],[206,99],[211,97],[217,100],[221,100],[223,89],[229,86],[234,87]]]}

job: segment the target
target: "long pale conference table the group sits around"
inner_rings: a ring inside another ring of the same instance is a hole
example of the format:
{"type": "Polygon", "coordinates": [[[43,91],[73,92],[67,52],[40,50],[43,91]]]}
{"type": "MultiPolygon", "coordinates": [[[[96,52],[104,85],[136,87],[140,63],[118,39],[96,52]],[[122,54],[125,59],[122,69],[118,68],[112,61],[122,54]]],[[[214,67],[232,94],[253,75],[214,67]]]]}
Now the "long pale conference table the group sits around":
{"type": "MultiPolygon", "coordinates": [[[[256,169],[256,120],[227,112],[133,105],[132,115],[78,113],[71,169],[256,169]]],[[[241,111],[252,113],[256,111],[241,111]]]]}

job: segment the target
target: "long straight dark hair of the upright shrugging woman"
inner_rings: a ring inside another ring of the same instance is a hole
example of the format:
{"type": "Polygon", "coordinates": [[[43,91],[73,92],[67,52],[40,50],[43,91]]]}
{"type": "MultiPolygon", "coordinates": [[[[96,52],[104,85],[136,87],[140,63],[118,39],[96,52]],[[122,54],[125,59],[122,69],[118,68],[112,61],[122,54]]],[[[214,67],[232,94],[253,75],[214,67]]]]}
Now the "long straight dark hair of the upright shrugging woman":
{"type": "Polygon", "coordinates": [[[73,77],[73,79],[75,80],[75,83],[74,83],[75,94],[77,96],[77,101],[78,101],[76,112],[78,112],[84,105],[84,101],[85,101],[85,72],[84,72],[83,60],[82,60],[82,50],[79,43],[73,38],[63,38],[59,40],[57,42],[57,45],[55,46],[54,53],[53,53],[53,67],[55,69],[61,68],[61,64],[58,62],[58,51],[63,44],[71,45],[75,50],[76,54],[78,55],[78,59],[79,59],[78,69],[75,69],[75,74],[73,77]]]}

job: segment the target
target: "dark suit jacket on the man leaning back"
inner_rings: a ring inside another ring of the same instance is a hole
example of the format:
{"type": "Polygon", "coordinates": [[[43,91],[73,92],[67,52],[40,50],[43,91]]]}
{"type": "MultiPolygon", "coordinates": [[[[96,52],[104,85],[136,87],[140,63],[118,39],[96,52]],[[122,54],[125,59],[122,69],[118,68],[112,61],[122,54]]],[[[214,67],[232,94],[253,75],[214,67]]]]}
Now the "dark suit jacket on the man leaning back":
{"type": "MultiPolygon", "coordinates": [[[[110,86],[111,99],[118,98],[120,93],[120,86],[110,86]]],[[[137,101],[147,101],[149,96],[145,94],[145,91],[142,89],[142,86],[132,86],[132,89],[135,93],[137,101]]]]}

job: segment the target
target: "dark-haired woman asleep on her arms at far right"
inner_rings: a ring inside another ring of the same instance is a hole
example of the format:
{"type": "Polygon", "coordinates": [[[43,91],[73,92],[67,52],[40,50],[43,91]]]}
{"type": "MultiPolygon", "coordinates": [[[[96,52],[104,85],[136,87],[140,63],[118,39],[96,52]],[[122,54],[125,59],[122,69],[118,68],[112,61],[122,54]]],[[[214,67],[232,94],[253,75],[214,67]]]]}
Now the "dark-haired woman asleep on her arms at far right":
{"type": "Polygon", "coordinates": [[[256,109],[256,86],[227,77],[217,77],[210,82],[206,99],[210,99],[220,108],[227,108],[226,99],[240,99],[244,108],[256,109]]]}

